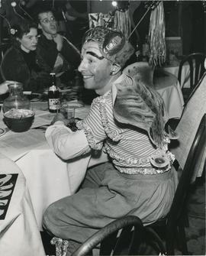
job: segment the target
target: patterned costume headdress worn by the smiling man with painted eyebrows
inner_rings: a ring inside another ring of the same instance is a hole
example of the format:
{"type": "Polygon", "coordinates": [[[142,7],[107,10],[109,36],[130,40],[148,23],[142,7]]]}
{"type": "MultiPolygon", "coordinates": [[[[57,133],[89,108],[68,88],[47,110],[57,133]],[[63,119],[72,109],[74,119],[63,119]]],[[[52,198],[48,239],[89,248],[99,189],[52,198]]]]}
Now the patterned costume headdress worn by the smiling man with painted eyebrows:
{"type": "Polygon", "coordinates": [[[134,47],[125,40],[121,31],[105,27],[95,27],[85,33],[82,43],[95,41],[103,57],[124,66],[129,57],[134,53],[134,47]]]}

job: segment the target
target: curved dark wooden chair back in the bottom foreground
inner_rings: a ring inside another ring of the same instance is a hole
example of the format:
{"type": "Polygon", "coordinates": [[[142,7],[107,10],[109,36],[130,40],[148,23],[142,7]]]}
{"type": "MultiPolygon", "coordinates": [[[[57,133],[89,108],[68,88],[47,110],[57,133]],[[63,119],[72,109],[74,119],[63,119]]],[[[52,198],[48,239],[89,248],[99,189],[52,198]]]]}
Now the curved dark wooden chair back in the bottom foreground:
{"type": "Polygon", "coordinates": [[[146,230],[138,217],[127,215],[98,230],[72,256],[88,255],[92,248],[99,244],[100,255],[138,255],[138,251],[140,251],[140,248],[142,249],[141,246],[146,238],[150,238],[152,241],[150,245],[155,245],[153,248],[158,251],[157,254],[159,254],[159,251],[161,253],[166,251],[156,232],[146,230]]]}

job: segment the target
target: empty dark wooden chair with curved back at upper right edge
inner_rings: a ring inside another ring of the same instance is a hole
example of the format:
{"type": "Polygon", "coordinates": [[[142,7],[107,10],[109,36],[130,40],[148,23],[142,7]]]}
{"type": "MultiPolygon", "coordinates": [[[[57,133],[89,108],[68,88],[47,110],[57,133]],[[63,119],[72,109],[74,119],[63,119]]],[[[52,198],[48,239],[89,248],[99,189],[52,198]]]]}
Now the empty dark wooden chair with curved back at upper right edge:
{"type": "Polygon", "coordinates": [[[189,54],[187,57],[185,57],[180,63],[179,63],[179,73],[178,73],[178,79],[179,83],[181,84],[182,79],[182,66],[185,63],[189,64],[189,88],[185,88],[184,85],[182,86],[182,94],[185,100],[188,99],[188,96],[192,92],[192,89],[197,85],[198,81],[201,79],[201,76],[204,73],[204,60],[205,60],[205,54],[204,53],[192,53],[189,54]]]}

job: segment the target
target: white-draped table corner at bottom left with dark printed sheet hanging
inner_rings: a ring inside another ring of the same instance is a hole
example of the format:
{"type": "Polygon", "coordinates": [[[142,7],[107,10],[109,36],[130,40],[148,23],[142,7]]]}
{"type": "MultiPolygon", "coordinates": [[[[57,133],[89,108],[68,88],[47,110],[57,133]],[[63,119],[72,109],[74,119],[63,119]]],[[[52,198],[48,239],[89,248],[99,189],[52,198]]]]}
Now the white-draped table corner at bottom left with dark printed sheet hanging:
{"type": "MultiPolygon", "coordinates": [[[[18,174],[5,219],[0,219],[1,255],[45,256],[23,173],[17,164],[2,154],[0,154],[0,170],[1,174],[18,174]]],[[[8,183],[11,183],[11,180],[8,180],[8,183]]],[[[7,198],[0,197],[0,203],[7,198]]]]}

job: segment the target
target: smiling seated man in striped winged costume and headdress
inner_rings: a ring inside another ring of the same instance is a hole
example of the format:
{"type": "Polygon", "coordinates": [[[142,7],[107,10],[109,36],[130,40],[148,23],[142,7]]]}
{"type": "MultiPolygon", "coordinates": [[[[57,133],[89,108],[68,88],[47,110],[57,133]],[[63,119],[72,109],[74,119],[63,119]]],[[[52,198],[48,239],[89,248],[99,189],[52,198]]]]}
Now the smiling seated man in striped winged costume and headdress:
{"type": "Polygon", "coordinates": [[[134,63],[122,72],[132,53],[120,31],[88,31],[79,71],[85,88],[99,96],[89,115],[77,122],[78,131],[66,127],[61,113],[46,131],[48,144],[63,159],[101,151],[108,157],[89,167],[77,193],[44,212],[43,227],[69,241],[67,255],[114,219],[137,215],[147,225],[165,216],[172,204],[177,177],[164,130],[163,99],[153,89],[147,63],[134,63]]]}

